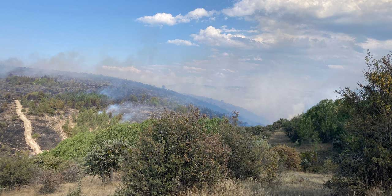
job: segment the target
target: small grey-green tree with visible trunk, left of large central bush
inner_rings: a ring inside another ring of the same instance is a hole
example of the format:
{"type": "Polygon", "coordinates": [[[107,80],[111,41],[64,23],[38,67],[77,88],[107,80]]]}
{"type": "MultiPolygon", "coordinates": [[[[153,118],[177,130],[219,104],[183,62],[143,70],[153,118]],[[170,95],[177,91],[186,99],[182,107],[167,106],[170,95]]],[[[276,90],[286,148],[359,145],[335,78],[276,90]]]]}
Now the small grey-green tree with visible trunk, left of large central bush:
{"type": "Polygon", "coordinates": [[[98,175],[102,182],[110,176],[111,181],[113,172],[118,171],[130,151],[131,147],[127,140],[105,140],[97,143],[85,158],[87,174],[98,175]]]}

